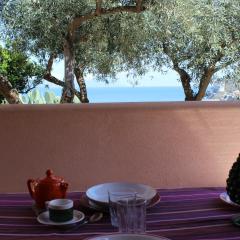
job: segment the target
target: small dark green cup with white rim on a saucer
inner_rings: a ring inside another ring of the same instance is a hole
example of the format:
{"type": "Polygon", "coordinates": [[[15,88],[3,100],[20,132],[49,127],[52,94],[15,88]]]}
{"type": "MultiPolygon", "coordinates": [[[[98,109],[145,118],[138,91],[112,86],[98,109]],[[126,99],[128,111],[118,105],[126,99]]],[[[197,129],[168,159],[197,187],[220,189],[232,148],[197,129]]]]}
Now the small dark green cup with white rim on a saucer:
{"type": "Polygon", "coordinates": [[[47,205],[51,221],[66,222],[73,219],[73,201],[71,199],[54,199],[47,205]]]}

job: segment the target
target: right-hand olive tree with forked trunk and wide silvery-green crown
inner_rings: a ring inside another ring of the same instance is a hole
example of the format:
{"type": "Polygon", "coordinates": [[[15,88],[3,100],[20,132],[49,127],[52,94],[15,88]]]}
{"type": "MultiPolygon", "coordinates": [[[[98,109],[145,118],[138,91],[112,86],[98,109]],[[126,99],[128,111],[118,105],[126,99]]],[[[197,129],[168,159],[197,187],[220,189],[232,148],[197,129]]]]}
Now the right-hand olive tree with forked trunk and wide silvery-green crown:
{"type": "Polygon", "coordinates": [[[185,100],[202,100],[213,81],[239,79],[239,12],[239,1],[161,0],[150,11],[129,15],[113,43],[126,71],[172,69],[185,100]]]}

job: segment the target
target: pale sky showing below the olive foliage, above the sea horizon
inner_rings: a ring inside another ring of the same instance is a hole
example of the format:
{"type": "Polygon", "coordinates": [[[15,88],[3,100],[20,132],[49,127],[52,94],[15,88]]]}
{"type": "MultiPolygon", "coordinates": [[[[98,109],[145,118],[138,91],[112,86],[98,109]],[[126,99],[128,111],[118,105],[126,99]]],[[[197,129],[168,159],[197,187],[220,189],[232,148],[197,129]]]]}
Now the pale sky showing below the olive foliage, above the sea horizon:
{"type": "MultiPolygon", "coordinates": [[[[52,75],[62,80],[64,75],[64,64],[63,61],[57,62],[53,65],[52,75]]],[[[94,77],[89,74],[85,77],[86,85],[88,88],[97,87],[176,87],[181,86],[181,83],[177,80],[178,75],[172,71],[168,70],[166,74],[162,74],[153,70],[150,70],[146,75],[142,77],[127,77],[127,73],[123,72],[117,75],[117,81],[110,82],[106,84],[94,79],[94,77]],[[137,85],[135,81],[137,80],[137,85]]],[[[45,82],[49,87],[57,87],[54,84],[49,84],[45,82]]]]}

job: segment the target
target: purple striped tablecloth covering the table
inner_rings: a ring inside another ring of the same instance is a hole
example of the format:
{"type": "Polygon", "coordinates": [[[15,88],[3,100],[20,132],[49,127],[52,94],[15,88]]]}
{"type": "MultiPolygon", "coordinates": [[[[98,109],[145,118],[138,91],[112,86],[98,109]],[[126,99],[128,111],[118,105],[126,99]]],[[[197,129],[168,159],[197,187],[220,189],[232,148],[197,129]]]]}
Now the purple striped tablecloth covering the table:
{"type": "MultiPolygon", "coordinates": [[[[161,201],[147,211],[147,233],[170,239],[240,239],[231,217],[240,214],[219,198],[224,188],[159,189],[161,201]]],[[[68,194],[78,202],[82,193],[68,194]]],[[[27,193],[0,194],[0,239],[86,239],[116,232],[108,216],[70,230],[37,222],[27,193]]]]}

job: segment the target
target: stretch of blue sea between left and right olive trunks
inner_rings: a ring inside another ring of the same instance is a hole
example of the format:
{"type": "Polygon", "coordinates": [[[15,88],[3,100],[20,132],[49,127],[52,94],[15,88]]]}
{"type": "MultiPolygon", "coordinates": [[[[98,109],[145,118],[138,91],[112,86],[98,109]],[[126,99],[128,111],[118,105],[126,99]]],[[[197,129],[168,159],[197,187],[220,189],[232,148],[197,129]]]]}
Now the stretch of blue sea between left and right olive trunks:
{"type": "Polygon", "coordinates": [[[88,88],[91,103],[184,101],[182,87],[88,88]]]}

